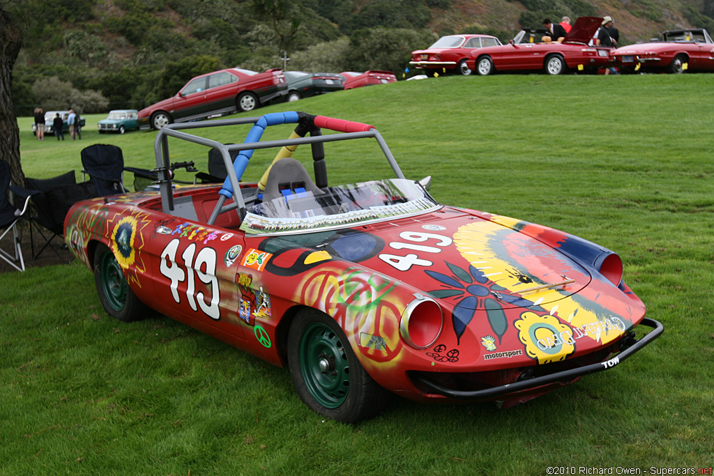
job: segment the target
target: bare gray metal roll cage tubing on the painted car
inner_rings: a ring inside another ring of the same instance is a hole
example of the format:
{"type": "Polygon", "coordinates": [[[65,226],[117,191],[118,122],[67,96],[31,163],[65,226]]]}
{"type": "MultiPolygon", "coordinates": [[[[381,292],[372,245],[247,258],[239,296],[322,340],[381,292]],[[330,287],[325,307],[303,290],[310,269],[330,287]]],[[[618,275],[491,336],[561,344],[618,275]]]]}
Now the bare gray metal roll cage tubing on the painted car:
{"type": "Polygon", "coordinates": [[[218,196],[218,203],[216,208],[213,209],[211,217],[208,218],[208,225],[213,225],[216,223],[218,215],[224,211],[230,211],[233,208],[238,208],[238,216],[243,220],[245,214],[246,204],[243,201],[243,194],[241,193],[241,187],[238,183],[238,178],[236,177],[236,171],[233,169],[233,161],[231,161],[231,151],[248,151],[260,148],[274,148],[282,146],[299,146],[301,144],[307,143],[319,143],[319,142],[335,142],[335,141],[346,141],[348,139],[356,138],[370,138],[376,139],[382,153],[387,158],[392,171],[396,174],[397,178],[405,178],[401,169],[399,168],[396,159],[389,150],[386,142],[382,138],[381,134],[375,129],[371,128],[366,132],[348,132],[348,133],[336,133],[329,134],[327,136],[309,136],[309,137],[298,137],[293,139],[282,139],[277,141],[263,141],[263,142],[251,142],[251,143],[239,143],[226,145],[218,141],[213,141],[208,138],[201,136],[196,136],[194,134],[179,131],[178,129],[197,129],[197,128],[208,128],[217,126],[234,126],[247,123],[256,123],[260,117],[250,117],[250,118],[236,118],[236,119],[222,119],[218,121],[205,121],[200,123],[174,123],[164,126],[159,129],[156,133],[156,140],[154,141],[154,154],[156,155],[156,168],[159,172],[159,190],[161,191],[161,208],[164,213],[171,214],[174,211],[174,194],[173,188],[171,187],[171,176],[170,176],[170,166],[169,161],[169,136],[183,139],[184,141],[197,143],[201,146],[206,146],[210,148],[216,148],[221,152],[221,157],[223,157],[223,162],[226,164],[226,171],[228,171],[228,179],[231,181],[231,186],[233,187],[233,202],[232,204],[223,207],[223,203],[226,201],[226,197],[223,195],[218,196]]]}

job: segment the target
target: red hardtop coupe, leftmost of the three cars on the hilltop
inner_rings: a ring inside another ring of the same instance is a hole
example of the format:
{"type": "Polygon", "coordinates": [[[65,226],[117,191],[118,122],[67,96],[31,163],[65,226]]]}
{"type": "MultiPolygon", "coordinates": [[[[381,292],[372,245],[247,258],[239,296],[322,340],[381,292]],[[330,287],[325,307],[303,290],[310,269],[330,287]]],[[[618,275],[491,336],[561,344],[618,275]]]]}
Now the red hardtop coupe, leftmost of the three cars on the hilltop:
{"type": "Polygon", "coordinates": [[[481,48],[497,46],[501,40],[490,35],[448,35],[442,36],[427,49],[411,52],[409,64],[426,73],[456,72],[471,74],[473,60],[481,48]],[[471,67],[467,63],[471,61],[471,67]]]}

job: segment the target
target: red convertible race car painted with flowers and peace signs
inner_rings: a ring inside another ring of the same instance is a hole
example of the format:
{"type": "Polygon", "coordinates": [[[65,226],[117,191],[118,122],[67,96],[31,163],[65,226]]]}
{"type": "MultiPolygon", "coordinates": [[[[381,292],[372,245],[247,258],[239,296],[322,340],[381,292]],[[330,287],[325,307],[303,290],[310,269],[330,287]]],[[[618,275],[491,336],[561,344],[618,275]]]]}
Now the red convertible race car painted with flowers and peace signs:
{"type": "Polygon", "coordinates": [[[373,126],[296,112],[172,124],[155,153],[158,190],[80,202],[66,217],[104,308],[124,321],[152,308],[287,366],[323,416],[363,420],[390,393],[516,405],[615,367],[663,330],[616,253],[438,203],[373,126]],[[240,124],[252,126],[239,144],[191,133],[240,124]],[[260,140],[282,124],[296,124],[290,138],[260,140]],[[174,187],[169,138],[220,151],[226,181],[174,187]],[[336,156],[381,156],[393,177],[329,183],[325,151],[343,141],[336,156]],[[291,157],[306,144],[312,175],[291,157]],[[280,148],[268,171],[241,181],[266,148],[280,148]]]}

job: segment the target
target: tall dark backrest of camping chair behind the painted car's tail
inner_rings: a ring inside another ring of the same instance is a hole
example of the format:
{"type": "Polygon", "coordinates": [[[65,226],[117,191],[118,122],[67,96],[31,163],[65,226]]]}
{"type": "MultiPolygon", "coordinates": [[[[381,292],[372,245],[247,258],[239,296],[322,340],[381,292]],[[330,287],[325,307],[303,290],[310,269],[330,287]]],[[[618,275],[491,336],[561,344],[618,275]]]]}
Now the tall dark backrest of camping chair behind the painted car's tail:
{"type": "Polygon", "coordinates": [[[126,193],[124,188],[124,154],[121,148],[109,144],[94,144],[81,151],[82,180],[89,179],[97,196],[104,197],[126,193]]]}

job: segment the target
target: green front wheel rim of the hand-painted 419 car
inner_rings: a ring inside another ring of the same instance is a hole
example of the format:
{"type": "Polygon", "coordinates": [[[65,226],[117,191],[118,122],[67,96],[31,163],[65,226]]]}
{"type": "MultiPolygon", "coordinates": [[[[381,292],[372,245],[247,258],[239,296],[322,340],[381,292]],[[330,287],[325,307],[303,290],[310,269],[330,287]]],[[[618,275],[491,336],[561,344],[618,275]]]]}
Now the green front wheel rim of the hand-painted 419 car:
{"type": "Polygon", "coordinates": [[[326,408],[342,405],[350,386],[342,340],[327,325],[312,323],[301,335],[299,351],[300,371],[310,395],[326,408]]]}

